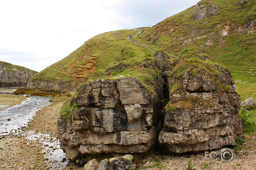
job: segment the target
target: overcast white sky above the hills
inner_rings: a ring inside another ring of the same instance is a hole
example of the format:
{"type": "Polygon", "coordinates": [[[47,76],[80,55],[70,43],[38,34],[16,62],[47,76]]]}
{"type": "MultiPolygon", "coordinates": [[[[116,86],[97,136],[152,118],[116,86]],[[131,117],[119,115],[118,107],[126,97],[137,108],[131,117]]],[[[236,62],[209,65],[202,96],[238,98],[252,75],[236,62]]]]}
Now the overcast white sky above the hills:
{"type": "Polygon", "coordinates": [[[1,0],[0,60],[42,71],[91,37],[152,26],[199,0],[1,0]]]}

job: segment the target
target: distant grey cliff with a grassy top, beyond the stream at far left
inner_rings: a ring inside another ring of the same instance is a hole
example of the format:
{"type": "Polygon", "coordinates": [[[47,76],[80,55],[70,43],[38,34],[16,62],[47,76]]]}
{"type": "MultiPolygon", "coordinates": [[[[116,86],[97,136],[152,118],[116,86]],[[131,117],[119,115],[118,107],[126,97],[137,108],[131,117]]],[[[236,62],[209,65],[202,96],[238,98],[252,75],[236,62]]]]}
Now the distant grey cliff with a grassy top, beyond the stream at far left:
{"type": "Polygon", "coordinates": [[[28,68],[0,61],[0,86],[26,85],[35,73],[28,68]]]}

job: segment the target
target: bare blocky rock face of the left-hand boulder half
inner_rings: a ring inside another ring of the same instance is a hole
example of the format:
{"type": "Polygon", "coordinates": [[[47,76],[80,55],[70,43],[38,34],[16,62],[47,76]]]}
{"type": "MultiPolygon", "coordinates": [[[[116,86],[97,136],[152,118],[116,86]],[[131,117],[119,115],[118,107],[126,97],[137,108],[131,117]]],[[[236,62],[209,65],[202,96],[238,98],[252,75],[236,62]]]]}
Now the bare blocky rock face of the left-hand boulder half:
{"type": "Polygon", "coordinates": [[[60,118],[57,125],[67,155],[143,153],[157,140],[159,108],[150,101],[159,99],[137,78],[96,80],[77,91],[71,103],[81,108],[71,113],[71,121],[60,118]]]}

